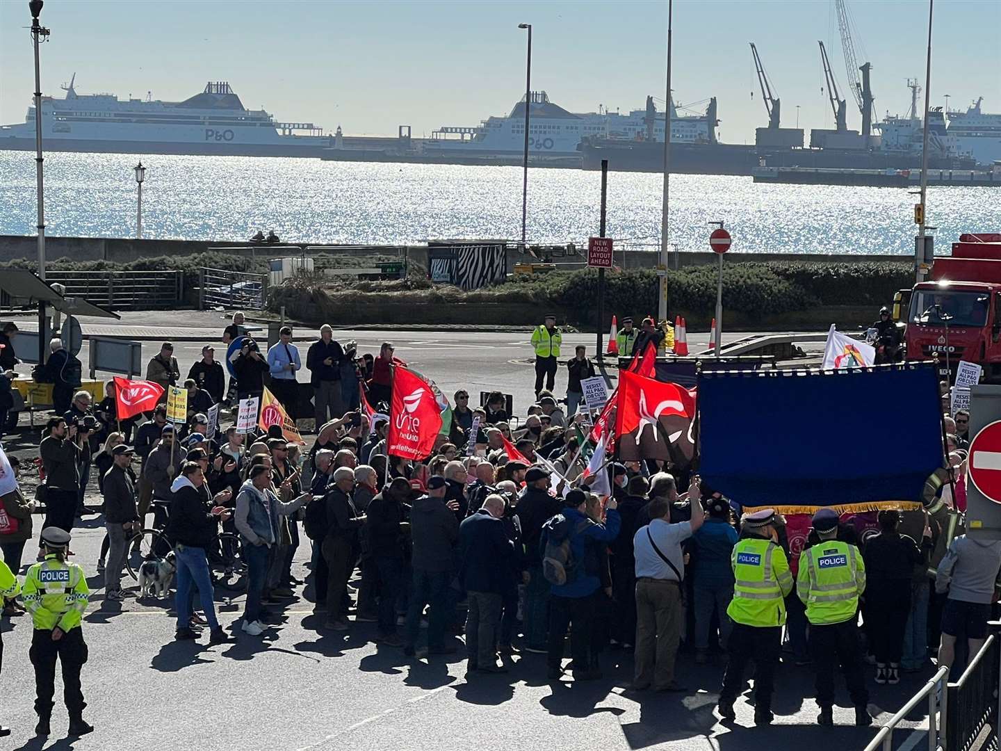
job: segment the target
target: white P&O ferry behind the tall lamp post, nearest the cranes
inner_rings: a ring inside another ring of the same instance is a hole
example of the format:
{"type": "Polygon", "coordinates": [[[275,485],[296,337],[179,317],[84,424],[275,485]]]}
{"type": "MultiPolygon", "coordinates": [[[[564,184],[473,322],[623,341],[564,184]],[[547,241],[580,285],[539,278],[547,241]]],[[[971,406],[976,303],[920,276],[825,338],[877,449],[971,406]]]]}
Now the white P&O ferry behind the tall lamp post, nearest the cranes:
{"type": "MultiPolygon", "coordinates": [[[[525,152],[525,106],[523,96],[506,117],[488,117],[475,127],[438,128],[423,142],[423,152],[440,155],[522,154],[525,152]]],[[[604,107],[598,112],[574,113],[550,101],[545,91],[533,91],[529,106],[529,151],[535,158],[580,156],[579,146],[587,138],[648,138],[651,116],[654,119],[654,138],[664,141],[664,112],[654,110],[652,100],[648,100],[647,109],[632,110],[629,114],[604,107]]],[[[673,101],[670,109],[673,143],[716,141],[715,111],[704,115],[679,115],[673,101]]],[[[711,101],[710,110],[715,110],[715,100],[711,101]]]]}

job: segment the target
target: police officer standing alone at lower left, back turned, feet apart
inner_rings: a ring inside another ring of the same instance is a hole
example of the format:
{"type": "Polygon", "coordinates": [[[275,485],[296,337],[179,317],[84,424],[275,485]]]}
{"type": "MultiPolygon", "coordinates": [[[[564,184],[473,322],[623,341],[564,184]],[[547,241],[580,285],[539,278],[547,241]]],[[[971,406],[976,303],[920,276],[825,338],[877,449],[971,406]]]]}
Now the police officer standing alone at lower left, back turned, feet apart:
{"type": "Polygon", "coordinates": [[[70,736],[85,735],[94,729],[83,720],[87,704],[80,690],[80,668],[87,662],[80,622],[90,590],[83,569],[66,563],[69,540],[69,533],[58,527],[42,530],[45,560],[28,569],[24,580],[24,606],[35,626],[28,657],[35,666],[35,734],[40,736],[49,734],[57,657],[62,663],[70,736]]]}

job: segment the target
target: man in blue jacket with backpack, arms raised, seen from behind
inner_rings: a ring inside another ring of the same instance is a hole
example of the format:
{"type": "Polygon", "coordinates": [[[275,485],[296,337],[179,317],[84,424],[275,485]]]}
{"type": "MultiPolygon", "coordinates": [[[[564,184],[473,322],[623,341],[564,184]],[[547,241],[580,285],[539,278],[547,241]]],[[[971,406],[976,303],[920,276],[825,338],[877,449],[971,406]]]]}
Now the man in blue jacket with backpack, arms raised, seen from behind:
{"type": "Polygon", "coordinates": [[[550,599],[549,677],[563,675],[564,640],[567,628],[571,632],[571,669],[577,680],[601,678],[598,653],[595,650],[595,625],[598,590],[602,586],[599,562],[601,548],[619,536],[622,521],[619,504],[609,499],[605,524],[592,521],[587,515],[588,496],[573,490],[564,499],[564,510],[543,526],[540,546],[546,556],[547,545],[558,546],[570,541],[567,560],[567,581],[554,584],[550,599]]]}

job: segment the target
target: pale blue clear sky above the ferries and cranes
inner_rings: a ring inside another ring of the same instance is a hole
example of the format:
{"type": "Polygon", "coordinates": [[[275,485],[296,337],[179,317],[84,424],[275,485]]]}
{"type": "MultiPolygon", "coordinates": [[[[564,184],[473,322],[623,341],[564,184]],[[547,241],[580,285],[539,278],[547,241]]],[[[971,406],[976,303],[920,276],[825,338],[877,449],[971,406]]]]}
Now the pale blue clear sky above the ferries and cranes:
{"type": "MultiPolygon", "coordinates": [[[[927,0],[847,0],[858,61],[873,65],[875,119],[905,114],[908,78],[924,85],[927,0]]],[[[663,106],[667,0],[572,2],[319,2],[318,0],[46,0],[42,91],[76,73],[78,93],[178,101],[208,80],[229,81],[244,106],[345,134],[395,135],[411,125],[476,125],[507,114],[532,83],[572,112],[627,112],[648,94],[663,106]]],[[[23,122],[33,62],[26,0],[0,0],[0,123],[23,122]]],[[[932,106],[965,108],[978,96],[1001,112],[1001,0],[938,0],[932,106]]],[[[748,42],[782,101],[784,126],[833,127],[823,88],[823,40],[848,125],[848,93],[833,0],[675,0],[672,89],[701,113],[718,98],[720,135],[754,141],[767,123],[748,42]],[[752,92],[753,95],[752,95],[752,92]],[[797,109],[797,107],[799,109],[797,109]]]]}

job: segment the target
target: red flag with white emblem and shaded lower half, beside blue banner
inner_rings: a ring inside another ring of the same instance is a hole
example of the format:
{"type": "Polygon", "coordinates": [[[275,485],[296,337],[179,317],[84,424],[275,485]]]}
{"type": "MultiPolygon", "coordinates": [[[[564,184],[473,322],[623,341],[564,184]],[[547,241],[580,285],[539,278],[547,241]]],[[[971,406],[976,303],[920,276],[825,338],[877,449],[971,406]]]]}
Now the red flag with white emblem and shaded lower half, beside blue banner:
{"type": "Polygon", "coordinates": [[[626,370],[619,374],[618,392],[616,434],[623,461],[673,459],[687,464],[692,460],[694,390],[626,370]]]}

